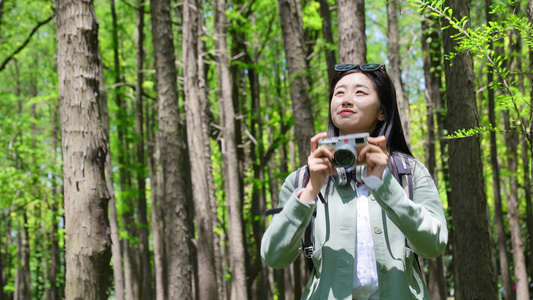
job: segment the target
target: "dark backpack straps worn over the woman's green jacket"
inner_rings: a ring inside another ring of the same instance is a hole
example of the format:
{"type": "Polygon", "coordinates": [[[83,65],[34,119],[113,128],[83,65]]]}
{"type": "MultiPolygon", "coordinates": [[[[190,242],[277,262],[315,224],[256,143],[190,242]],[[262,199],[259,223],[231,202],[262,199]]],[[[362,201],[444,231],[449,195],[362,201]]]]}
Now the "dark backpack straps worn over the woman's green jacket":
{"type": "MultiPolygon", "coordinates": [[[[389,161],[388,167],[391,174],[396,178],[396,180],[400,183],[400,185],[406,190],[409,196],[409,199],[413,199],[413,174],[411,173],[411,167],[409,166],[409,162],[407,161],[407,157],[404,154],[392,154],[390,156],[392,158],[389,161]],[[406,189],[407,188],[407,189],[406,189]]],[[[294,180],[294,190],[305,187],[307,183],[309,182],[309,169],[307,168],[307,165],[298,168],[296,170],[296,178],[294,180]]],[[[318,194],[318,197],[320,198],[320,201],[322,203],[327,202],[327,195],[329,194],[329,182],[326,187],[326,199],[322,196],[322,193],[318,194]]],[[[273,208],[273,209],[267,209],[266,215],[274,215],[283,210],[283,207],[273,208]]],[[[307,227],[305,228],[304,237],[302,238],[302,250],[304,252],[306,261],[307,261],[307,267],[309,269],[309,272],[311,273],[314,269],[313,265],[313,226],[315,223],[316,218],[316,206],[313,211],[313,216],[311,217],[311,220],[309,221],[309,224],[307,224],[307,227]]],[[[405,241],[407,246],[407,239],[405,241]]],[[[415,254],[416,262],[418,263],[418,255],[415,254]]]]}

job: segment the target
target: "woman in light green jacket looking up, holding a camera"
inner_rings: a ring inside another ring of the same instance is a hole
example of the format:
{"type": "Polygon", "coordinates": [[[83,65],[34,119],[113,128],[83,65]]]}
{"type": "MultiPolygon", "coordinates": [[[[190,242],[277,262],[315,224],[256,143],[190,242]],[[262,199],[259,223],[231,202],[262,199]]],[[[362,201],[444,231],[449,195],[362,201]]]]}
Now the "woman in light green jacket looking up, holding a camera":
{"type": "Polygon", "coordinates": [[[316,208],[314,269],[302,299],[430,299],[416,254],[442,253],[448,231],[433,178],[412,157],[403,135],[395,89],[382,64],[337,65],[331,85],[328,133],[311,138],[309,182],[295,190],[295,173],[280,192],[283,210],[261,242],[264,261],[289,266],[316,208]],[[366,164],[362,183],[341,185],[326,137],[369,133],[358,153],[366,164]],[[403,157],[412,199],[391,174],[391,155],[403,157]],[[324,195],[327,201],[317,201],[324,195]]]}

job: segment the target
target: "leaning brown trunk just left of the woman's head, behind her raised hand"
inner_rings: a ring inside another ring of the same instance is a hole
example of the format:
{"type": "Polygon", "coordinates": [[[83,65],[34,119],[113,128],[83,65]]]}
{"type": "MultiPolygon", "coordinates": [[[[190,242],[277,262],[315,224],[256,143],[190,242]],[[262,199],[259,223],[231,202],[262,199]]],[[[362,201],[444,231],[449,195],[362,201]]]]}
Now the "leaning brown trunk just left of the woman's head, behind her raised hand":
{"type": "Polygon", "coordinates": [[[300,164],[307,162],[309,141],[314,135],[312,102],[309,97],[309,83],[305,73],[305,52],[303,45],[302,16],[296,0],[278,0],[285,57],[289,71],[289,82],[294,113],[294,128],[298,143],[300,164]]]}

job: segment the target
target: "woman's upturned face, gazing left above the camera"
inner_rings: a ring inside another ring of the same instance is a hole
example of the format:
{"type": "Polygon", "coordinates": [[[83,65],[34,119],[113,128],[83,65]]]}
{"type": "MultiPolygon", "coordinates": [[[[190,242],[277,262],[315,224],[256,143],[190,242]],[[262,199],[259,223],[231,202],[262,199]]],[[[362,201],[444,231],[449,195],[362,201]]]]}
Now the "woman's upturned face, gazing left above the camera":
{"type": "Polygon", "coordinates": [[[362,72],[344,76],[337,82],[331,99],[331,119],[340,135],[368,132],[385,120],[374,83],[362,72]]]}

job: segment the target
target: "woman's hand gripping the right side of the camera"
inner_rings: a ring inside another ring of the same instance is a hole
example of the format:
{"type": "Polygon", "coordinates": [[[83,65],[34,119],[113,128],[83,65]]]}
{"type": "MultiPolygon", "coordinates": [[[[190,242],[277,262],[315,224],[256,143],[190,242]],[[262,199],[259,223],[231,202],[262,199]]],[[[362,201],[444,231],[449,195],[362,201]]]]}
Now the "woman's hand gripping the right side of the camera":
{"type": "Polygon", "coordinates": [[[368,137],[368,145],[364,146],[357,157],[358,163],[366,163],[366,175],[374,175],[379,179],[389,162],[387,140],[385,136],[368,137]]]}

